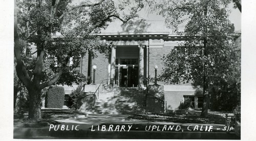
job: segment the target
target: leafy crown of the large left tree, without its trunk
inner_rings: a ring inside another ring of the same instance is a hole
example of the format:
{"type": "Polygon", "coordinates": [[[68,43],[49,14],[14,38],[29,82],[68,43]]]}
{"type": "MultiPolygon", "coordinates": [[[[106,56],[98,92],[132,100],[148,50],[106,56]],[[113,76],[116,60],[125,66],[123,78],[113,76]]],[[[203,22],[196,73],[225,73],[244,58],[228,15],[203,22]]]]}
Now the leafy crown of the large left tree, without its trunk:
{"type": "Polygon", "coordinates": [[[70,0],[61,3],[49,0],[17,2],[19,41],[22,50],[28,50],[26,54],[22,53],[22,56],[31,80],[36,58],[41,51],[44,51],[41,83],[54,79],[60,70],[63,71],[60,76],[62,79],[56,84],[71,85],[73,82],[78,84],[84,81],[85,76],[72,71],[79,65],[79,58],[88,51],[93,57],[97,57],[96,51],[104,53],[106,57],[110,53],[112,43],[101,41],[96,34],[115,19],[126,23],[137,17],[136,13],[144,7],[142,1],[135,1],[133,4],[131,1],[120,1],[118,6],[111,0],[100,1],[97,5],[86,1],[78,6],[72,6],[71,2],[70,0]],[[55,10],[52,9],[54,3],[55,10]],[[126,14],[125,8],[129,5],[132,9],[126,14]],[[61,37],[51,38],[56,34],[61,34],[61,37]],[[29,52],[31,45],[36,46],[36,52],[29,52]],[[49,62],[48,57],[55,59],[49,62]],[[70,60],[73,64],[67,66],[70,60]]]}

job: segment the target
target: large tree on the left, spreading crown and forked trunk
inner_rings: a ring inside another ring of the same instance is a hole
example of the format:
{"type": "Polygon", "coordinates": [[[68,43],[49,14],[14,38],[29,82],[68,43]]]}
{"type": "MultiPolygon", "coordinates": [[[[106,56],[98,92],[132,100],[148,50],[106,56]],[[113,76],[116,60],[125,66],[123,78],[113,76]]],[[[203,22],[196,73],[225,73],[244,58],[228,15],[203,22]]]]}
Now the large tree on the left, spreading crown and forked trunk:
{"type": "Polygon", "coordinates": [[[115,19],[126,23],[137,17],[143,1],[84,1],[71,6],[71,0],[28,0],[15,2],[14,54],[17,76],[28,90],[29,119],[40,121],[41,90],[58,82],[72,84],[84,76],[72,70],[90,50],[108,51],[108,44],[95,34],[115,19]],[[129,6],[129,10],[125,9],[129,6]],[[53,38],[55,34],[61,37],[53,38]],[[35,46],[35,51],[31,50],[35,46]],[[106,49],[102,49],[106,48],[106,49]],[[24,53],[24,50],[26,50],[24,53]],[[31,55],[26,61],[26,58],[31,55]],[[52,59],[49,60],[49,57],[52,59]],[[72,58],[72,65],[67,65],[72,58]]]}

